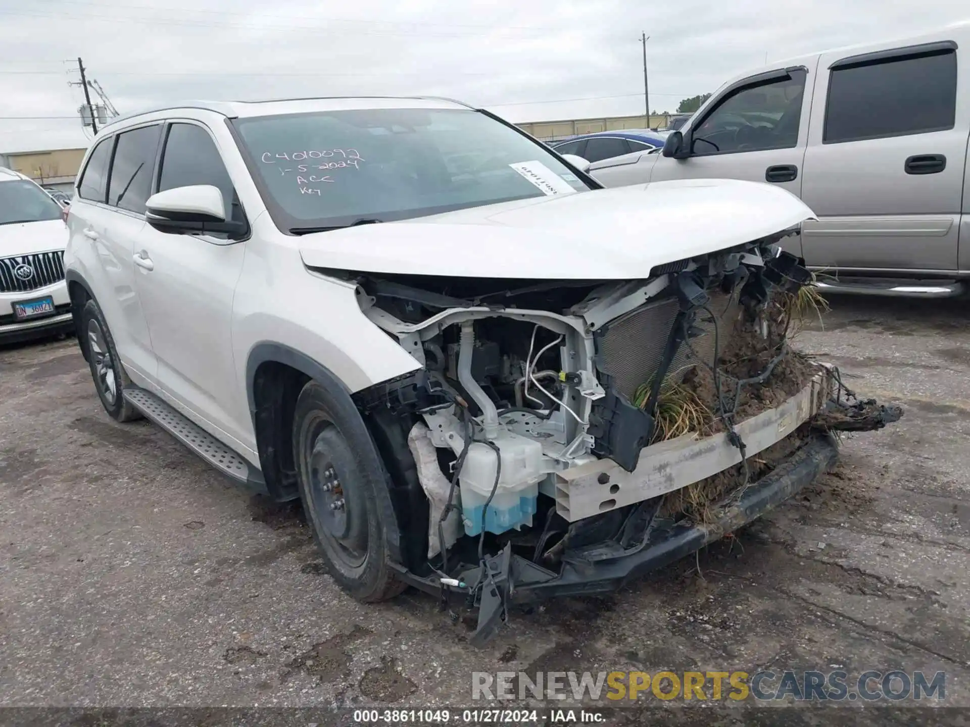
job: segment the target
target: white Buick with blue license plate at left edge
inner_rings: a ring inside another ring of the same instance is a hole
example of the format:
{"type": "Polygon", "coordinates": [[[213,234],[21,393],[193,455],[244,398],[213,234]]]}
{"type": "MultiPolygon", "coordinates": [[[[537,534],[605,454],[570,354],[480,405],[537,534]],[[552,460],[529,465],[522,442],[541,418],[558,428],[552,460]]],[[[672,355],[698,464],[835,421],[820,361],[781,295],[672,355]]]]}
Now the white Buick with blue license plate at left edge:
{"type": "Polygon", "coordinates": [[[63,212],[29,177],[0,167],[0,343],[74,328],[63,212]]]}

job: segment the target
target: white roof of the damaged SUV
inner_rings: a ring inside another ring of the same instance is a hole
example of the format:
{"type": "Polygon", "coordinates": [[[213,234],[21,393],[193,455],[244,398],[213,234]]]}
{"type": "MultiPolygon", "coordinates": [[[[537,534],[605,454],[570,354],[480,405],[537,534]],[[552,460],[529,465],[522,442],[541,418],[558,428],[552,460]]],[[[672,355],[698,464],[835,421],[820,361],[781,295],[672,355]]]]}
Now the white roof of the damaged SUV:
{"type": "Polygon", "coordinates": [[[105,125],[109,129],[115,124],[138,116],[146,116],[161,111],[197,110],[211,111],[227,118],[246,116],[266,116],[280,113],[301,113],[311,111],[344,111],[352,109],[472,109],[474,107],[461,101],[438,98],[435,96],[332,96],[297,99],[266,99],[260,101],[186,101],[179,104],[129,113],[118,116],[105,125]]]}

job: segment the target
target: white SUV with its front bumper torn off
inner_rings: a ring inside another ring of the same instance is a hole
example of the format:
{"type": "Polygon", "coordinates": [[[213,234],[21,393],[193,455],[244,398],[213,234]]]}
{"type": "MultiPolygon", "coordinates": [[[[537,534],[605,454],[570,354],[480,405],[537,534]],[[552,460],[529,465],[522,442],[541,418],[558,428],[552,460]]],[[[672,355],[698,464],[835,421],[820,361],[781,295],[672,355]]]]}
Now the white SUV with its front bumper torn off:
{"type": "Polygon", "coordinates": [[[480,643],[898,417],[788,346],[809,275],[777,243],[811,216],[754,182],[601,189],[453,101],[194,104],[99,134],[67,280],[114,419],[301,497],[355,597],[460,593],[480,643]]]}

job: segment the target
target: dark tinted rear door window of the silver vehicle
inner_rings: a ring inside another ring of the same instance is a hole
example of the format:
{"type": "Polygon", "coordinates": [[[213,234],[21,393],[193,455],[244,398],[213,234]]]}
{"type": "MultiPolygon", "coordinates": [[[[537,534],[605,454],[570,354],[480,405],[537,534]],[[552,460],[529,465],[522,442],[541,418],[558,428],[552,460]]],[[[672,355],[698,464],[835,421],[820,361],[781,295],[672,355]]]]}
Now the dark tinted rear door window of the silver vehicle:
{"type": "MultiPolygon", "coordinates": [[[[851,59],[849,59],[851,61],[851,59]]],[[[954,128],[956,52],[835,64],[823,142],[857,142],[954,128]]]]}

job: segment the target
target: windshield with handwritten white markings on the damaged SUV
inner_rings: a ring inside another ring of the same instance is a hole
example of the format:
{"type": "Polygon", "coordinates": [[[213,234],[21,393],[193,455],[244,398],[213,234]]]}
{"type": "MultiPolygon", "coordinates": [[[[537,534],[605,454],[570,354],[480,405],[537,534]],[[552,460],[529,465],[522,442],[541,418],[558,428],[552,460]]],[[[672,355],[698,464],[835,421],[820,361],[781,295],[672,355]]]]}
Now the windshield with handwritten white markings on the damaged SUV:
{"type": "Polygon", "coordinates": [[[276,225],[299,234],[590,189],[546,146],[471,110],[236,119],[276,225]]]}

